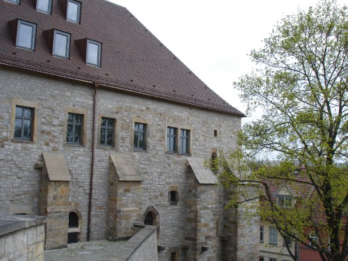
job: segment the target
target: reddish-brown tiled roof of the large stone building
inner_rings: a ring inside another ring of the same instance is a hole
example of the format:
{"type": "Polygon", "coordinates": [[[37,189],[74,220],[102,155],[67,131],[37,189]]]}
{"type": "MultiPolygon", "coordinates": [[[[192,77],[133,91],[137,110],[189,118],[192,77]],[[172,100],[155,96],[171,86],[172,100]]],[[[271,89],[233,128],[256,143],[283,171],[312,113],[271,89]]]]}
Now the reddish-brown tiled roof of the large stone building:
{"type": "Polygon", "coordinates": [[[0,1],[0,63],[58,77],[94,81],[164,100],[244,114],[224,101],[172,54],[126,8],[104,0],[81,0],[81,23],[65,19],[58,1],[52,15],[35,10],[34,0],[20,5],[0,1]],[[8,22],[22,19],[37,24],[35,51],[15,47],[8,22]],[[71,33],[70,59],[52,56],[43,31],[71,33]],[[75,40],[102,42],[102,65],[86,65],[75,40]]]}

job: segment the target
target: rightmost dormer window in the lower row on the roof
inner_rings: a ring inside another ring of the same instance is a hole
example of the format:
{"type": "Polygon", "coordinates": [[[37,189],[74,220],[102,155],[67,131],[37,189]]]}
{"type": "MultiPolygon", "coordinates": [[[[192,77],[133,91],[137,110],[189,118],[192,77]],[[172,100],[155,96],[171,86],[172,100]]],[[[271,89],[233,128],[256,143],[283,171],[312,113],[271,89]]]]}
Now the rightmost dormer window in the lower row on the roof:
{"type": "Polygon", "coordinates": [[[102,43],[87,38],[75,40],[81,56],[87,64],[101,65],[102,60],[102,43]]]}

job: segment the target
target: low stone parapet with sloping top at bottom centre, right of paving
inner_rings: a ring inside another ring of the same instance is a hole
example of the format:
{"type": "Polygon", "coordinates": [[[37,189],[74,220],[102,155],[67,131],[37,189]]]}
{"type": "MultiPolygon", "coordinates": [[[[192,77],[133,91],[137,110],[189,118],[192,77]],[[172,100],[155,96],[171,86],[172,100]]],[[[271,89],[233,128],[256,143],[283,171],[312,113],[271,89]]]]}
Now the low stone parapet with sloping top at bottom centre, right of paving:
{"type": "Polygon", "coordinates": [[[127,243],[122,244],[116,251],[115,256],[110,258],[109,261],[157,261],[156,230],[155,226],[145,226],[134,237],[129,239],[127,243]]]}

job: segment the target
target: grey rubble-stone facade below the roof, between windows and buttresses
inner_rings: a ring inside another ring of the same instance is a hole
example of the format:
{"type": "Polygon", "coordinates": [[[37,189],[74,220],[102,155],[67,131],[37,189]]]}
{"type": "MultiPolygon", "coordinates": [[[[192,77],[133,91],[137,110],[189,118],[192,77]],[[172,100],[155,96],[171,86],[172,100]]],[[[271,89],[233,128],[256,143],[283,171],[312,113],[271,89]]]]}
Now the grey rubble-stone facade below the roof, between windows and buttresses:
{"type": "MultiPolygon", "coordinates": [[[[71,175],[68,200],[81,219],[81,241],[87,239],[90,196],[90,239],[104,239],[107,236],[110,209],[109,158],[113,153],[131,154],[143,180],[139,185],[139,206],[136,207],[140,209],[140,216],[149,207],[156,209],[157,220],[161,221],[159,244],[166,246],[166,249],[180,249],[180,256],[184,256],[185,238],[188,236],[187,213],[191,202],[191,185],[187,182],[187,158],[209,159],[212,150],[235,147],[234,132],[240,129],[241,119],[228,113],[97,88],[96,121],[93,126],[94,93],[92,85],[1,68],[0,175],[3,184],[0,187],[0,198],[3,200],[0,203],[0,213],[39,214],[40,170],[34,166],[41,160],[42,152],[57,152],[64,155],[71,175]],[[16,104],[35,108],[37,124],[33,129],[35,140],[32,142],[13,139],[13,106],[16,104]],[[66,143],[68,112],[84,116],[82,145],[66,143]],[[111,147],[99,145],[101,117],[115,120],[115,143],[111,147]],[[147,125],[146,150],[133,148],[134,122],[147,125]],[[190,154],[166,152],[168,126],[189,129],[190,154]],[[90,191],[92,173],[93,191],[90,191]],[[173,188],[179,198],[175,205],[168,200],[168,193],[173,188]]],[[[127,193],[130,188],[125,186],[123,189],[127,193]]],[[[210,226],[219,219],[221,226],[216,229],[214,225],[212,229],[223,233],[223,200],[217,200],[216,204],[219,205],[219,213],[203,222],[210,226]]],[[[218,244],[212,243],[214,247],[220,248],[218,244]]],[[[160,260],[167,260],[169,253],[160,253],[160,260]]]]}

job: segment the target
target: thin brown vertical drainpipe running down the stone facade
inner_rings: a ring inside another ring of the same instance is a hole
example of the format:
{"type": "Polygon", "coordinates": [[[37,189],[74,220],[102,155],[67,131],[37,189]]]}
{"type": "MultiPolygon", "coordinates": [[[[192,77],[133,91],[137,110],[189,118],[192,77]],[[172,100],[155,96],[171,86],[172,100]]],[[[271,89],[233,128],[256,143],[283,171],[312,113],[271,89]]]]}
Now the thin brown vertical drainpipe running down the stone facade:
{"type": "Polygon", "coordinates": [[[90,159],[90,187],[89,187],[89,198],[88,198],[88,227],[87,227],[87,241],[90,241],[90,228],[91,228],[91,216],[92,216],[92,198],[93,198],[93,176],[94,176],[94,151],[95,151],[95,108],[97,106],[97,88],[99,83],[94,83],[94,97],[93,97],[93,125],[92,125],[92,156],[90,159]]]}

